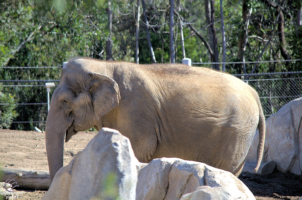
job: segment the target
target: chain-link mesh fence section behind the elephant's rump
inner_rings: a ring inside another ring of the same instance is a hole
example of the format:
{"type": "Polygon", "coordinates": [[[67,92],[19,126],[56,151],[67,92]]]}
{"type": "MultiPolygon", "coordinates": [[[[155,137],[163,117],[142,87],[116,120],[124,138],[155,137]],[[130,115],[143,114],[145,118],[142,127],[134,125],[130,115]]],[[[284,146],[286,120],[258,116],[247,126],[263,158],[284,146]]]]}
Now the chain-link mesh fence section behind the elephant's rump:
{"type": "Polygon", "coordinates": [[[265,119],[291,100],[302,97],[302,71],[252,74],[249,80],[244,80],[243,75],[234,76],[257,91],[265,119]]]}

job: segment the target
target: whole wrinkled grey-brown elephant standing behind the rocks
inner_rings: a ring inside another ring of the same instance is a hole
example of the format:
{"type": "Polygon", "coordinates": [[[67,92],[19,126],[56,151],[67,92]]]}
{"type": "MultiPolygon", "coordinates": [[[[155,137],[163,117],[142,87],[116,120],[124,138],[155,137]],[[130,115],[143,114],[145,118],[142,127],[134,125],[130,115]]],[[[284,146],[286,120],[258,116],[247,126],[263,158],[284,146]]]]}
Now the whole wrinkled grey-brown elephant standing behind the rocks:
{"type": "Polygon", "coordinates": [[[182,64],[139,65],[71,59],[53,92],[46,150],[53,179],[63,167],[64,138],[91,127],[116,129],[135,156],[177,157],[238,176],[259,129],[258,170],[265,118],[257,92],[240,79],[182,64]]]}

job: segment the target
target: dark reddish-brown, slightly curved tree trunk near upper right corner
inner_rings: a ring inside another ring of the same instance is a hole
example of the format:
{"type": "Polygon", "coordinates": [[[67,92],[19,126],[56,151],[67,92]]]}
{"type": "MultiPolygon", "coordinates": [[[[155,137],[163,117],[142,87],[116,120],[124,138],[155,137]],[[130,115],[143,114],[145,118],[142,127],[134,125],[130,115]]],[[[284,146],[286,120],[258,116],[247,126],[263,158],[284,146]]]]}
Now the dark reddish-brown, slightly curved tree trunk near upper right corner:
{"type": "MultiPolygon", "coordinates": [[[[289,56],[286,50],[285,36],[284,36],[284,15],[280,7],[277,8],[277,11],[280,13],[280,18],[278,20],[278,35],[279,35],[279,47],[280,52],[284,60],[290,60],[291,56],[289,56]]],[[[288,66],[289,62],[285,62],[285,65],[288,66]]]]}

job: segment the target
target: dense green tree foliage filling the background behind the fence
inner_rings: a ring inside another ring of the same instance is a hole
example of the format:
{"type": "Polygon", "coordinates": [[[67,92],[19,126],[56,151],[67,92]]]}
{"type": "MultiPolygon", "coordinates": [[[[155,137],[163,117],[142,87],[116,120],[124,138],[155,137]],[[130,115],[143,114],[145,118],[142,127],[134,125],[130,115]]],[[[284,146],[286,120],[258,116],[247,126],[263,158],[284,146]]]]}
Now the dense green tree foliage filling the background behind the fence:
{"type": "MultiPolygon", "coordinates": [[[[63,62],[76,56],[86,56],[104,60],[106,40],[108,40],[108,15],[106,8],[111,4],[113,11],[112,56],[114,60],[134,61],[137,1],[121,0],[0,0],[0,66],[61,66],[63,62]]],[[[151,43],[159,63],[169,63],[169,1],[147,0],[146,14],[150,24],[151,43]]],[[[243,21],[244,1],[223,1],[226,32],[226,61],[241,61],[238,52],[239,37],[246,33],[243,21]]],[[[296,11],[302,0],[281,2],[284,11],[285,48],[292,59],[301,59],[302,27],[295,27],[296,11]]],[[[247,9],[252,9],[247,27],[248,40],[244,52],[246,61],[257,60],[271,37],[271,42],[263,51],[260,60],[282,60],[280,40],[275,24],[277,7],[267,1],[246,0],[247,9]]],[[[175,1],[175,11],[185,23],[190,23],[208,41],[208,28],[204,1],[175,1]]],[[[219,1],[215,1],[215,21],[220,19],[219,1]]],[[[142,12],[142,9],[141,11],[142,12]]],[[[145,20],[140,18],[139,61],[151,63],[146,40],[145,20]]],[[[176,62],[181,62],[180,19],[174,15],[174,36],[176,62]]],[[[221,23],[215,23],[219,58],[222,58],[221,23]]],[[[186,57],[192,62],[210,62],[207,48],[192,30],[184,25],[186,57]]],[[[210,65],[199,65],[210,67],[210,65]]],[[[247,64],[249,73],[255,65],[247,64]]],[[[220,66],[221,67],[221,66],[220,66]]],[[[301,71],[302,62],[258,64],[254,73],[301,71]]],[[[226,65],[226,72],[242,74],[242,65],[226,65]]],[[[1,80],[58,80],[60,68],[47,69],[5,69],[0,68],[1,80]]],[[[21,83],[21,82],[20,82],[21,83]]],[[[14,84],[20,84],[18,82],[14,84]]],[[[9,84],[3,82],[3,84],[9,84]]],[[[22,83],[27,84],[27,83],[22,83]]],[[[43,84],[31,82],[30,84],[43,84]]],[[[58,84],[58,82],[56,82],[58,84]]],[[[4,103],[13,98],[16,103],[45,103],[45,87],[1,87],[6,95],[4,103]],[[13,96],[10,96],[13,94],[13,96]]],[[[51,89],[50,97],[54,88],[51,89]]],[[[8,106],[12,120],[44,121],[47,118],[46,105],[8,106]],[[17,116],[18,115],[18,116],[17,116]]],[[[2,110],[3,114],[3,110],[2,110]]],[[[1,115],[2,117],[2,115],[1,115]]],[[[2,119],[4,120],[4,119],[2,119]]],[[[3,127],[8,127],[3,126],[3,127]]],[[[12,129],[32,130],[34,126],[45,129],[45,123],[12,124],[12,129]]]]}

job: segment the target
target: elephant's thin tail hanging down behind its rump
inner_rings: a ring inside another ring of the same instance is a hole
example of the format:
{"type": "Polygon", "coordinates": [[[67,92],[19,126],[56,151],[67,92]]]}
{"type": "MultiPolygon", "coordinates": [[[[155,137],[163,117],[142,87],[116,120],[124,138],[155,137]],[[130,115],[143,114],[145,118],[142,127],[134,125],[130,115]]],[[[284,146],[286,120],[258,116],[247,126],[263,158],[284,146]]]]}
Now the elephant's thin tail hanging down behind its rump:
{"type": "Polygon", "coordinates": [[[259,97],[257,95],[257,103],[259,106],[259,122],[258,122],[258,130],[259,130],[259,148],[258,148],[258,160],[257,160],[257,165],[254,171],[257,171],[259,169],[261,160],[262,160],[262,155],[263,155],[263,150],[264,150],[264,140],[265,140],[265,118],[264,114],[262,111],[261,103],[259,100],[259,97]]]}

